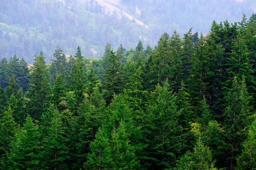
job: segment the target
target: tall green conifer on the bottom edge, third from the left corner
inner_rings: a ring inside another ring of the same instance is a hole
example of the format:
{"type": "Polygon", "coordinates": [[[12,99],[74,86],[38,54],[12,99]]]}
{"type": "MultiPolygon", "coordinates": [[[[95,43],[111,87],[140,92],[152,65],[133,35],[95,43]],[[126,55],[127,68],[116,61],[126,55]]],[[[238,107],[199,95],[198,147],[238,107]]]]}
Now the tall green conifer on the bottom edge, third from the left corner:
{"type": "Polygon", "coordinates": [[[42,140],[44,150],[40,153],[40,166],[41,169],[66,170],[69,159],[68,140],[64,134],[61,114],[53,105],[49,107],[49,110],[52,112],[52,117],[47,128],[47,133],[42,140]]]}

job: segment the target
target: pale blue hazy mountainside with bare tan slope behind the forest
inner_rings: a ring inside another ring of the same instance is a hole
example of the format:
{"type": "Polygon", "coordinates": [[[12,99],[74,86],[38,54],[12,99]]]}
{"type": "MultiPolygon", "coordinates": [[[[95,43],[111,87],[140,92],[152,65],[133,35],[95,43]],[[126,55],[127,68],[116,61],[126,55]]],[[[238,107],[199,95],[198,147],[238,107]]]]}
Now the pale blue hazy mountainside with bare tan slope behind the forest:
{"type": "Polygon", "coordinates": [[[210,31],[212,20],[239,22],[256,12],[255,0],[4,0],[0,1],[0,59],[14,54],[47,62],[56,45],[65,54],[81,46],[85,57],[102,57],[107,42],[129,50],[141,39],[154,45],[164,32],[182,36],[210,31]]]}

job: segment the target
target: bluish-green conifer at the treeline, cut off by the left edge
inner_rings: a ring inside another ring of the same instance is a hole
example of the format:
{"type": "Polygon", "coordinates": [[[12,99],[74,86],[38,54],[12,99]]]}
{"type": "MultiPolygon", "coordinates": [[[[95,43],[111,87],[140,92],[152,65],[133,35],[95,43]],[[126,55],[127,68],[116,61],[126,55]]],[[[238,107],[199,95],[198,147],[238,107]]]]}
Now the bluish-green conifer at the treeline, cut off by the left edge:
{"type": "Polygon", "coordinates": [[[8,70],[8,61],[4,57],[0,62],[0,86],[6,88],[9,82],[9,70],[8,70]]]}

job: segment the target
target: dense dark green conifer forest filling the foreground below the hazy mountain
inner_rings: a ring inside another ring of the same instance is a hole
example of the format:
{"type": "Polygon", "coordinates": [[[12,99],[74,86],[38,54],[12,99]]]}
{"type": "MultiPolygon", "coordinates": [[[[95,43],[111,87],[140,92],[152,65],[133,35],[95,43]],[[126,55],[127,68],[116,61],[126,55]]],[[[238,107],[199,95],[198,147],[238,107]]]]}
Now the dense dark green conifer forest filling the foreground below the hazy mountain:
{"type": "Polygon", "coordinates": [[[256,14],[53,57],[0,62],[0,169],[256,169],[256,14]]]}

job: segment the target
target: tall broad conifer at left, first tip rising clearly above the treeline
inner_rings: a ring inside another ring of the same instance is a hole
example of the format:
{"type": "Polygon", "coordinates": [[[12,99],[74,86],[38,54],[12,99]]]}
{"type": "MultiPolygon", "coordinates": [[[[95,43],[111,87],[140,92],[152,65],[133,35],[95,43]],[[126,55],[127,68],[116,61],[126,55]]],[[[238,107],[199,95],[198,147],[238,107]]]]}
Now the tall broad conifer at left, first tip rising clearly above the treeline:
{"type": "Polygon", "coordinates": [[[46,107],[47,95],[50,91],[46,73],[44,56],[41,52],[39,56],[35,57],[34,67],[29,81],[29,89],[26,93],[26,97],[29,99],[27,111],[35,119],[41,117],[46,107]]]}

